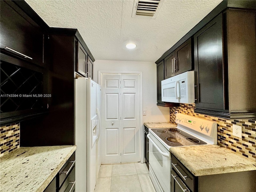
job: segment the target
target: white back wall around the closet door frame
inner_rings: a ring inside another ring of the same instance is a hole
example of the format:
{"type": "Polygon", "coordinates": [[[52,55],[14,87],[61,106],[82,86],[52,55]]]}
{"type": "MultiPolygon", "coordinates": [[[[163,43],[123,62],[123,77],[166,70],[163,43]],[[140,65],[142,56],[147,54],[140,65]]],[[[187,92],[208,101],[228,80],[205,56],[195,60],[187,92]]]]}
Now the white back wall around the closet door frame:
{"type": "Polygon", "coordinates": [[[98,82],[98,71],[141,71],[143,77],[143,122],[170,122],[170,108],[156,105],[156,64],[154,62],[96,60],[93,80],[98,82]]]}

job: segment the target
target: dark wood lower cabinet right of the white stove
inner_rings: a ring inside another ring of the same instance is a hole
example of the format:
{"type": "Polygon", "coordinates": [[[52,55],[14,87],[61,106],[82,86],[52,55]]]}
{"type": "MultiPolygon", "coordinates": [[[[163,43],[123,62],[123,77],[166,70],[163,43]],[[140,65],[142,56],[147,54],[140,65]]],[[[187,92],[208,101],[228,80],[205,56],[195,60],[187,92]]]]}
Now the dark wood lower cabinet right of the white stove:
{"type": "Polygon", "coordinates": [[[256,171],[194,176],[173,154],[171,167],[172,192],[256,191],[256,184],[254,182],[256,180],[256,171]],[[182,178],[181,175],[186,176],[186,178],[182,178]]]}

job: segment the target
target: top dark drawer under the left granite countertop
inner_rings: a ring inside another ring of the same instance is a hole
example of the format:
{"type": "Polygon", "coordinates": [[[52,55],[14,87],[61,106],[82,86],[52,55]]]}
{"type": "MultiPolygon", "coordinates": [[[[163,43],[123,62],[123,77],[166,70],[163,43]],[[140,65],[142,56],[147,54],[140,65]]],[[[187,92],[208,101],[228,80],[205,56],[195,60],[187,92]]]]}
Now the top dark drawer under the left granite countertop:
{"type": "Polygon", "coordinates": [[[71,174],[72,168],[75,166],[75,153],[72,154],[72,156],[68,159],[66,164],[61,168],[59,172],[59,185],[62,186],[62,183],[64,180],[71,174]]]}

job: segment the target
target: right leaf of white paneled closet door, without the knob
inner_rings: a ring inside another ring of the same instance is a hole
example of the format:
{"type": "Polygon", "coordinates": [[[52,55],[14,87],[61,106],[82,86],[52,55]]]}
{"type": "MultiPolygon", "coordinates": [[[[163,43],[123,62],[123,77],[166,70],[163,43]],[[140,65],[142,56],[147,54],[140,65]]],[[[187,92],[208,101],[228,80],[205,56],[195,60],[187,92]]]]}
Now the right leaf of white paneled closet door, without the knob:
{"type": "Polygon", "coordinates": [[[121,162],[140,161],[140,76],[121,75],[121,162]]]}

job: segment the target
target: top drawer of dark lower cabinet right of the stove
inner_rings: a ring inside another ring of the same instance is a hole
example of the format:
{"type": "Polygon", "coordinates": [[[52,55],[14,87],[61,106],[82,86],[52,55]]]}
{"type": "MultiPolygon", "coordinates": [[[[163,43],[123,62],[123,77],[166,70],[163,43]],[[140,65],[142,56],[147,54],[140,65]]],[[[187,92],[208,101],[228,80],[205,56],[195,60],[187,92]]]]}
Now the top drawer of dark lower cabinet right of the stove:
{"type": "Polygon", "coordinates": [[[177,175],[181,178],[182,182],[184,182],[188,188],[191,190],[194,189],[195,178],[194,175],[190,173],[190,171],[174,156],[172,155],[172,174],[177,175]],[[182,178],[182,176],[185,177],[182,178]]]}

